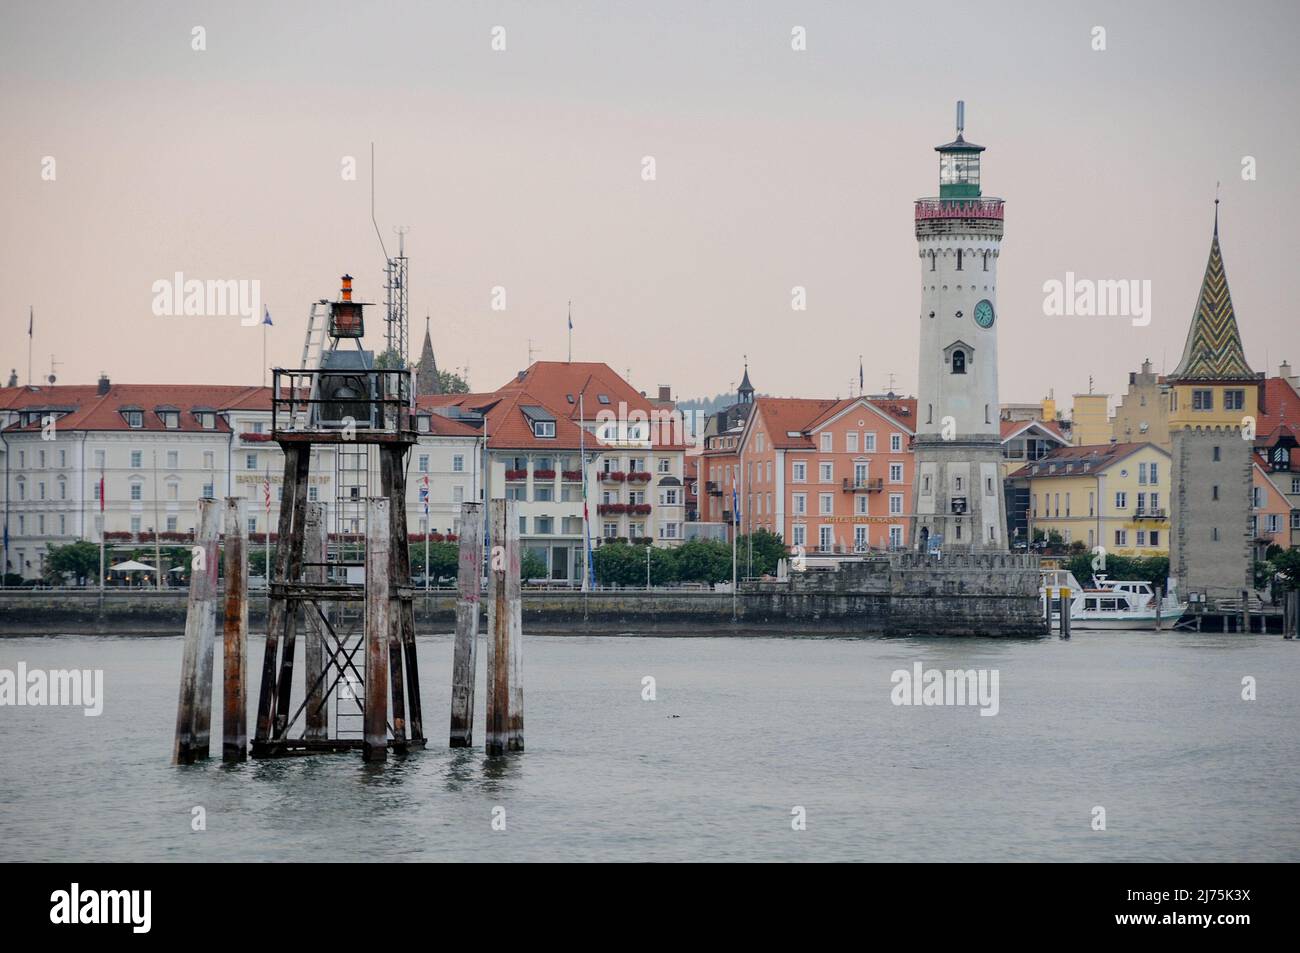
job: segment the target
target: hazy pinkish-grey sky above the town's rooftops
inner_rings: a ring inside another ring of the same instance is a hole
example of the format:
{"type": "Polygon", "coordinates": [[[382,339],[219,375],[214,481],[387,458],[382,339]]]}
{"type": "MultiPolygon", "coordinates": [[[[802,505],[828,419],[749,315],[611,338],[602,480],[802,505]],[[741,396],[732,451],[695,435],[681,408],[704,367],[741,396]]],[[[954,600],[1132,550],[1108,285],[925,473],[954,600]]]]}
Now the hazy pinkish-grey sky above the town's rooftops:
{"type": "Polygon", "coordinates": [[[936,192],[957,99],[1008,203],[1002,400],[1089,374],[1118,394],[1145,356],[1173,369],[1216,181],[1247,356],[1300,364],[1297,5],[1062,7],[6,3],[3,372],[26,380],[31,304],[38,377],[53,354],[61,382],[257,382],[259,328],[152,313],[176,272],[259,280],[270,361],[296,364],[344,270],[382,300],[374,140],[386,241],[410,226],[412,350],[428,312],[439,365],[476,389],[524,367],[528,338],[564,359],[572,298],[573,356],[644,390],[724,390],[744,352],[766,393],[841,395],[859,354],[868,390],[893,373],[913,393],[911,203],[936,192]],[[1044,316],[1066,272],[1149,280],[1150,325],[1044,316]]]}

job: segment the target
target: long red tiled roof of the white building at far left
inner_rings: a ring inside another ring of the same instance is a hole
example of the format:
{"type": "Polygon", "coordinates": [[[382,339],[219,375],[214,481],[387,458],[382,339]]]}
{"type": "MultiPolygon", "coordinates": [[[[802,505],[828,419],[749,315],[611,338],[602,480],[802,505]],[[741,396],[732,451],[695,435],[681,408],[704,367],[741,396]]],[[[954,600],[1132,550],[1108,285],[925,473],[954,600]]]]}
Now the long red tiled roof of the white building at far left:
{"type": "MultiPolygon", "coordinates": [[[[181,412],[179,426],[173,432],[199,433],[194,411],[254,410],[270,411],[269,387],[244,387],[222,384],[114,384],[107,394],[99,394],[95,385],[55,385],[51,387],[4,387],[0,390],[0,408],[21,411],[44,407],[70,407],[69,413],[58,419],[60,430],[160,430],[165,432],[159,408],[176,408],[181,412]],[[143,412],[143,426],[127,425],[124,410],[143,412]]],[[[27,429],[39,429],[32,423],[27,429]]],[[[17,425],[9,429],[18,429],[17,425]]],[[[218,416],[216,430],[229,433],[230,428],[218,416]]],[[[211,433],[211,430],[209,430],[211,433]]]]}

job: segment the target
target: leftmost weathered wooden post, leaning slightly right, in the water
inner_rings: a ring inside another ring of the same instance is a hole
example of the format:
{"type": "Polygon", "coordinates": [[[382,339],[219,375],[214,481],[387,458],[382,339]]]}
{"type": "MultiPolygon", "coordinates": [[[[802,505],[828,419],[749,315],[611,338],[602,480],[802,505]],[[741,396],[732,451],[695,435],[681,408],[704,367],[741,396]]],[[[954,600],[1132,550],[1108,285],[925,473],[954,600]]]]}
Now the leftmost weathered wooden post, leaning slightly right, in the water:
{"type": "Polygon", "coordinates": [[[181,654],[181,697],[176,712],[173,764],[208,757],[212,725],[212,653],[217,601],[217,503],[199,501],[199,534],[190,563],[190,599],[181,654]]]}

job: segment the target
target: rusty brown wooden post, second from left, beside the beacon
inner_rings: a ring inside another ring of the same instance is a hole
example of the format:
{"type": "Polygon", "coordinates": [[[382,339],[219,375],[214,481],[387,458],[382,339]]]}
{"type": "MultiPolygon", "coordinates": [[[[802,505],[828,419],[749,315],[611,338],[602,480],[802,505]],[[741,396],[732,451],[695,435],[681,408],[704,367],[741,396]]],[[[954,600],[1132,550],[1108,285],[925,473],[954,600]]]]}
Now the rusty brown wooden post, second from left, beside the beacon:
{"type": "Polygon", "coordinates": [[[225,511],[221,759],[244,761],[248,757],[248,551],[243,501],[226,497],[225,511]]]}

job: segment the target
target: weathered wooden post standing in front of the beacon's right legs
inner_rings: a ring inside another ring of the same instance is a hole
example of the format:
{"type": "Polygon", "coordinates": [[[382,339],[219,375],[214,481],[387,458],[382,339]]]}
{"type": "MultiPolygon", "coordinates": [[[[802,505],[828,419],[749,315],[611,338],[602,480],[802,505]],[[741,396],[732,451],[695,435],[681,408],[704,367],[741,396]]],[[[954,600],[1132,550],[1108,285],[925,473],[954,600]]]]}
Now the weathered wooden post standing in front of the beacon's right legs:
{"type": "Polygon", "coordinates": [[[365,761],[389,757],[389,501],[370,497],[365,501],[365,761]]]}

